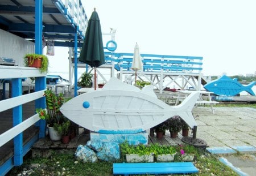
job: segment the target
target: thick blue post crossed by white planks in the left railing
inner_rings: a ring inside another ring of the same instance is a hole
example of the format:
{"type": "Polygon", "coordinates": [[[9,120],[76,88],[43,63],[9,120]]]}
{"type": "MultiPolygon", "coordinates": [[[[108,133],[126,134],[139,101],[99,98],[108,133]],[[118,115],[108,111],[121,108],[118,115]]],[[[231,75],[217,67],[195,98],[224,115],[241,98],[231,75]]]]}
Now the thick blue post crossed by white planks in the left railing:
{"type": "MultiPolygon", "coordinates": [[[[22,95],[22,80],[20,78],[12,80],[12,97],[22,95]]],[[[22,122],[22,105],[13,108],[13,126],[22,122]]],[[[23,133],[21,132],[14,138],[14,166],[20,166],[23,162],[23,133]]]]}

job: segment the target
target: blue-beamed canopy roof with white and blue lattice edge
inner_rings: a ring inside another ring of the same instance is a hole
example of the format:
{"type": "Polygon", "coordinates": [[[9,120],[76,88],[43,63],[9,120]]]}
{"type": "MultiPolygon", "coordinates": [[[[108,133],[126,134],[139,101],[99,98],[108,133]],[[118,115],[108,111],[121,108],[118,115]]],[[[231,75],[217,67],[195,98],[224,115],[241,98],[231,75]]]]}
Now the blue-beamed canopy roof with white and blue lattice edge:
{"type": "MultiPolygon", "coordinates": [[[[43,36],[55,41],[56,46],[71,46],[75,29],[78,41],[83,41],[87,27],[87,16],[81,0],[43,1],[43,36]],[[68,41],[68,42],[67,42],[68,41]]],[[[35,40],[35,0],[1,0],[0,29],[14,35],[35,40]]]]}

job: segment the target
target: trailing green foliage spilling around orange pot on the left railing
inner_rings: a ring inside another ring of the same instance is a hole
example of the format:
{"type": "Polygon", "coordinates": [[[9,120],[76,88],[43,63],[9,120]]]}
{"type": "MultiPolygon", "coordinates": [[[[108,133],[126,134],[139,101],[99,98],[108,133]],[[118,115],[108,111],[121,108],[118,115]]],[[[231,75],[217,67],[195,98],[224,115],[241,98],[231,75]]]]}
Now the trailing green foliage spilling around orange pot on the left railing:
{"type": "Polygon", "coordinates": [[[41,73],[47,73],[48,72],[48,67],[49,67],[49,60],[46,55],[43,54],[26,54],[23,57],[24,59],[24,65],[28,67],[29,65],[32,65],[32,63],[35,62],[35,59],[39,59],[42,61],[41,66],[40,66],[40,72],[41,73]],[[29,62],[30,59],[30,62],[29,62]]]}

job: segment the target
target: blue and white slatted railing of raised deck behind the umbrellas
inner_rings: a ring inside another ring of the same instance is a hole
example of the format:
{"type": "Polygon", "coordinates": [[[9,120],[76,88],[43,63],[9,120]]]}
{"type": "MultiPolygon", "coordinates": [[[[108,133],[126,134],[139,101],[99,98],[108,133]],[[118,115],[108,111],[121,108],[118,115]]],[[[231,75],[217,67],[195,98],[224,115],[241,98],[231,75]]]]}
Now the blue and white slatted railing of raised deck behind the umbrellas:
{"type": "MultiPolygon", "coordinates": [[[[203,57],[141,54],[144,72],[201,73],[203,57]]],[[[106,65],[114,63],[118,71],[133,71],[133,53],[105,52],[106,65]]]]}

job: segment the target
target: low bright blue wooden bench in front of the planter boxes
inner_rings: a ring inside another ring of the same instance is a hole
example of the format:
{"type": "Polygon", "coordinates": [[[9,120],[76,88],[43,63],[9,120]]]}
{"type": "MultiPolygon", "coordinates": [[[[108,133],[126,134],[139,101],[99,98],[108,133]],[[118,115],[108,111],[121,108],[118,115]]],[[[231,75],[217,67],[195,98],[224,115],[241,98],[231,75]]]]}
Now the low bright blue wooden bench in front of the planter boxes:
{"type": "Polygon", "coordinates": [[[113,174],[189,174],[198,173],[192,162],[114,163],[113,174]]]}

